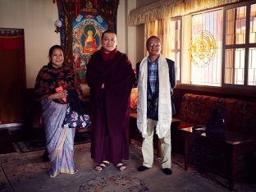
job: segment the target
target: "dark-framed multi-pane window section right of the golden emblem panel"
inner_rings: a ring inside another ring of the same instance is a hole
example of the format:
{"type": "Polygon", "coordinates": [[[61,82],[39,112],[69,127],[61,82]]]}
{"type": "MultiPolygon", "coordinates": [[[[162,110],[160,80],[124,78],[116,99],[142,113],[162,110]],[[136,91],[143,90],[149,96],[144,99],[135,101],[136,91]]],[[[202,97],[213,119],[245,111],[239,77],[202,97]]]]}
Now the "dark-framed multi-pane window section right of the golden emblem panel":
{"type": "Polygon", "coordinates": [[[224,85],[256,85],[256,4],[224,8],[224,85]]]}

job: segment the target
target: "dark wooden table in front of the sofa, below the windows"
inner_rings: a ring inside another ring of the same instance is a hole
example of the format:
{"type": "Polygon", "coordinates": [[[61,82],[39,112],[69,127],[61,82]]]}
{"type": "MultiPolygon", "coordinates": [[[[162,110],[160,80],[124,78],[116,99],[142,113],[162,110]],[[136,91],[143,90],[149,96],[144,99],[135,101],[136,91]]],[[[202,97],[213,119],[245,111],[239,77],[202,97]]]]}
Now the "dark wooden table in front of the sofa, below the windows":
{"type": "Polygon", "coordinates": [[[256,163],[256,138],[231,131],[223,135],[193,133],[192,127],[181,129],[185,138],[185,170],[189,162],[226,177],[229,190],[235,179],[252,173],[256,163]]]}

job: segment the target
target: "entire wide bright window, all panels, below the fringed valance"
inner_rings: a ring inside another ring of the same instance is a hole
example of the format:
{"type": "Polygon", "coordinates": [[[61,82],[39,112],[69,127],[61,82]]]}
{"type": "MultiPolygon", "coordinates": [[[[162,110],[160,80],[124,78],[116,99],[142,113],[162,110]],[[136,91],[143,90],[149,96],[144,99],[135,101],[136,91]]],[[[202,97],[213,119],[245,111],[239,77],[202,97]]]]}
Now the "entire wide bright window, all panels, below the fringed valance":
{"type": "MultiPolygon", "coordinates": [[[[254,89],[255,1],[154,22],[163,55],[176,63],[177,83],[254,89]]],[[[148,33],[153,29],[145,27],[148,33]]]]}

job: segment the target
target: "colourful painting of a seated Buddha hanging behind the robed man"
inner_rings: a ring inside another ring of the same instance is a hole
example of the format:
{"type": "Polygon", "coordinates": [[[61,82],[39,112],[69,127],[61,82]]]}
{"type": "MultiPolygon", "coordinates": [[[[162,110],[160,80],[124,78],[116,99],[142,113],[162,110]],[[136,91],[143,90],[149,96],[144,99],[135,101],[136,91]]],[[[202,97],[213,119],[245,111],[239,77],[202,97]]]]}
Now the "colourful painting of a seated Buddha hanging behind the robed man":
{"type": "Polygon", "coordinates": [[[101,34],[107,30],[107,22],[98,14],[80,14],[73,20],[72,28],[73,67],[80,80],[85,80],[86,65],[101,48],[101,34]]]}

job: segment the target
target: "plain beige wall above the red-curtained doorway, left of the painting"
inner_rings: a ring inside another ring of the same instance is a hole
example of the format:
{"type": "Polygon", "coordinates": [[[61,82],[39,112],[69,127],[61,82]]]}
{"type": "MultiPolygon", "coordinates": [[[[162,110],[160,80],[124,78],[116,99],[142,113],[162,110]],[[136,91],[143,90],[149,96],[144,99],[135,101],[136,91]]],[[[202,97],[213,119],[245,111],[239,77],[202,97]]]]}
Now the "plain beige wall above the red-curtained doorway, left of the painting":
{"type": "Polygon", "coordinates": [[[25,31],[27,88],[34,87],[39,69],[48,63],[48,49],[60,44],[54,32],[57,4],[50,0],[0,0],[0,27],[25,31]]]}

